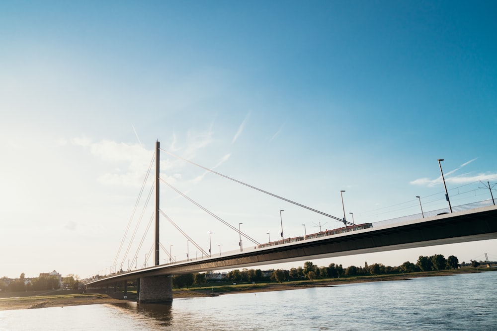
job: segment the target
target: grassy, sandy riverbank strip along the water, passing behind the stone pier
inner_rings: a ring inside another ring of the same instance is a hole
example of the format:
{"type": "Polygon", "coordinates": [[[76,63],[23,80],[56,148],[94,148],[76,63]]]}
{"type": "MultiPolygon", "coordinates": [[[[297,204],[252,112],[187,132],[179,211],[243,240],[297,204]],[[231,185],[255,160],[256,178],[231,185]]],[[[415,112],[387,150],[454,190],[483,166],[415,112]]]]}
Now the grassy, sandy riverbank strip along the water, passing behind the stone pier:
{"type": "MultiPolygon", "coordinates": [[[[495,269],[476,269],[464,268],[457,270],[440,270],[428,272],[414,272],[409,274],[387,274],[378,276],[361,276],[361,277],[342,277],[342,278],[327,278],[314,281],[298,280],[284,283],[249,283],[237,285],[217,285],[204,284],[201,287],[192,287],[189,289],[174,289],[173,298],[191,298],[203,296],[219,296],[229,293],[257,293],[267,291],[284,291],[303,289],[310,287],[327,287],[342,284],[374,282],[374,281],[390,281],[390,280],[409,280],[417,277],[433,277],[433,276],[449,276],[460,273],[474,273],[482,271],[496,271],[495,269]]],[[[40,293],[30,295],[30,293],[12,293],[13,297],[7,297],[7,293],[2,293],[0,297],[0,310],[12,309],[35,309],[45,307],[65,307],[76,305],[89,304],[115,304],[126,301],[136,301],[136,293],[128,292],[127,299],[123,299],[123,293],[115,294],[102,293],[85,293],[81,294],[78,291],[53,291],[51,293],[40,293]]]]}

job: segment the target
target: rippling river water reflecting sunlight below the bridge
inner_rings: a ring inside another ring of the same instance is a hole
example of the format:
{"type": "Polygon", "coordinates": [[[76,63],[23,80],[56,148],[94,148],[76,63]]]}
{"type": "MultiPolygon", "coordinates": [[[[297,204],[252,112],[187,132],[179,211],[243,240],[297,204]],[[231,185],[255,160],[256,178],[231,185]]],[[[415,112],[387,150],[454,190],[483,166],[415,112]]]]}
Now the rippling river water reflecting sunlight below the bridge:
{"type": "Polygon", "coordinates": [[[0,311],[0,330],[497,330],[497,272],[0,311]]]}

